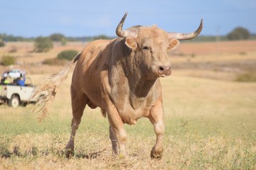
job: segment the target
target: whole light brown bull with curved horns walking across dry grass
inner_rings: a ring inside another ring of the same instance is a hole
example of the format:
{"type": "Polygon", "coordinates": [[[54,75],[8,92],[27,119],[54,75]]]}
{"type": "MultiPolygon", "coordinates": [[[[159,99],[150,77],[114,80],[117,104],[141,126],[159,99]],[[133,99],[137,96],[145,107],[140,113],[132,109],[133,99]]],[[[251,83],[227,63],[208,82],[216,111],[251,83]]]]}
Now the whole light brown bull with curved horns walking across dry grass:
{"type": "Polygon", "coordinates": [[[58,86],[67,77],[74,62],[71,84],[72,130],[66,156],[74,151],[75,133],[78,130],[85,106],[102,108],[110,122],[110,140],[114,154],[127,157],[125,142],[127,134],[124,123],[133,125],[139,118],[149,118],[156,133],[156,144],[151,149],[151,158],[161,158],[164,146],[164,109],[159,77],[171,74],[167,52],[178,45],[178,40],[195,38],[203,23],[193,33],[167,33],[156,26],[134,26],[122,30],[125,13],[117,26],[114,40],[90,42],[59,74],[50,77],[38,86],[35,95],[48,91],[43,99],[43,113],[58,86]]]}

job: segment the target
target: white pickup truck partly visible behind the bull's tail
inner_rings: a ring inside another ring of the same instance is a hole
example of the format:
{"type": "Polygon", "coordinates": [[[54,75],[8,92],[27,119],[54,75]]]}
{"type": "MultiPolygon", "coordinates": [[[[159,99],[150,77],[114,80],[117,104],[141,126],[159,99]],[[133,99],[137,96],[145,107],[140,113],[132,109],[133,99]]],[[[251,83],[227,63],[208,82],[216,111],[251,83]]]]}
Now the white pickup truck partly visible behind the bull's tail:
{"type": "Polygon", "coordinates": [[[11,107],[20,105],[26,106],[28,103],[36,103],[37,98],[31,99],[34,85],[29,77],[26,77],[24,86],[15,84],[0,84],[0,103],[8,103],[11,107]]]}

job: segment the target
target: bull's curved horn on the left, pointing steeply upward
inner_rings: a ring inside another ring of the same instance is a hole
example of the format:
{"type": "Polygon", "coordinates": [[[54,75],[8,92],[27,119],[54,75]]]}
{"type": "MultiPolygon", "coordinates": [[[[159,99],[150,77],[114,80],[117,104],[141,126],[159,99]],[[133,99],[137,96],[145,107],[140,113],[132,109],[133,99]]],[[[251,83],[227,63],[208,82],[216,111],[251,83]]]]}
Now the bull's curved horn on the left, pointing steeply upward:
{"type": "Polygon", "coordinates": [[[137,38],[137,32],[134,31],[134,30],[122,30],[122,26],[124,25],[124,21],[125,21],[125,18],[127,17],[127,12],[124,13],[124,16],[122,18],[122,20],[120,21],[120,23],[118,24],[117,26],[117,29],[116,29],[116,34],[117,36],[119,37],[122,37],[122,38],[137,38]]]}

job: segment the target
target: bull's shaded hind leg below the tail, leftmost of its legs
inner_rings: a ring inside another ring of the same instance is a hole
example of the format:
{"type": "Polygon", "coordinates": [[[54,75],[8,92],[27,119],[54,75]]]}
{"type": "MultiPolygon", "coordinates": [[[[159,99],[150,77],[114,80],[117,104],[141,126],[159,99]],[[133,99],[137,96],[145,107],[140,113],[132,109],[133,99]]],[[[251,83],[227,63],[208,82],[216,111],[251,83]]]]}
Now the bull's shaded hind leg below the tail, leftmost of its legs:
{"type": "Polygon", "coordinates": [[[65,147],[65,156],[71,157],[74,154],[74,141],[75,141],[75,133],[78,130],[79,124],[81,122],[82,114],[87,104],[88,98],[85,94],[78,94],[71,91],[71,100],[72,100],[72,111],[73,111],[73,119],[71,123],[71,134],[70,140],[68,141],[68,145],[65,147]]]}

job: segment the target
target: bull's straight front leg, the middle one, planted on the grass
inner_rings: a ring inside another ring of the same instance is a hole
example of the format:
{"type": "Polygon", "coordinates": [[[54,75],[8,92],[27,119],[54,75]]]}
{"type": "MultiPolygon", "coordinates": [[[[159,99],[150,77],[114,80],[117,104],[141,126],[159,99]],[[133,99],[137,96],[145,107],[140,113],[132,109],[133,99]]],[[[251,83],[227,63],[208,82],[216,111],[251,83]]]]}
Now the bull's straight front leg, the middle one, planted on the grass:
{"type": "Polygon", "coordinates": [[[117,109],[109,109],[107,118],[110,122],[110,140],[112,142],[112,149],[114,154],[117,154],[117,144],[119,145],[119,158],[127,158],[125,151],[125,143],[127,141],[127,134],[124,130],[124,123],[120,118],[117,109]],[[117,141],[115,141],[117,140],[117,141]],[[117,144],[116,144],[117,142],[117,144]]]}

